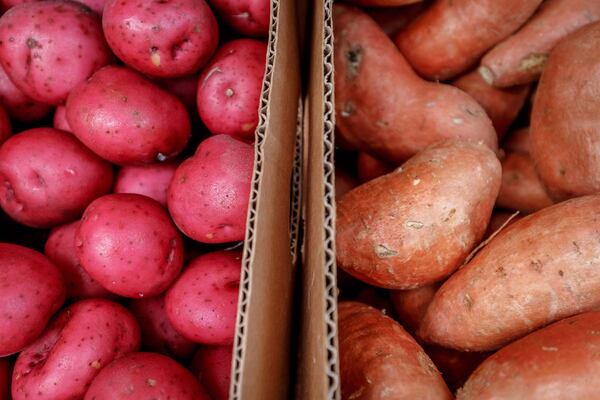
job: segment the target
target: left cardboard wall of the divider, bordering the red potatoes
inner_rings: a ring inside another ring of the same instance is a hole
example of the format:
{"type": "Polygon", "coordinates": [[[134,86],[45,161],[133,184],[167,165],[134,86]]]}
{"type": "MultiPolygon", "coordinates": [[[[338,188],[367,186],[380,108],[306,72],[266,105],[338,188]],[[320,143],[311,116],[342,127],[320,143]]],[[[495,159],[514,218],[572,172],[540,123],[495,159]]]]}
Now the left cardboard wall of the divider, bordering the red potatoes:
{"type": "Polygon", "coordinates": [[[294,149],[302,134],[296,14],[296,2],[271,0],[230,399],[288,397],[293,246],[297,243],[300,215],[300,196],[293,190],[299,190],[301,181],[301,157],[295,154],[302,151],[294,149]],[[290,201],[290,195],[294,200],[290,201]]]}

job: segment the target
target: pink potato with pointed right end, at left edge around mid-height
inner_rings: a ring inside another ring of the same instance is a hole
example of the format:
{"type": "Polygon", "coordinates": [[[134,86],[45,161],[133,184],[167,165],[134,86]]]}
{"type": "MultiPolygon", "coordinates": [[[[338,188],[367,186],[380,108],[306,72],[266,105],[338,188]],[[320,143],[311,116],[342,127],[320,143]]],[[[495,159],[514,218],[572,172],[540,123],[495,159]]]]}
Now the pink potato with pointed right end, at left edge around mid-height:
{"type": "Polygon", "coordinates": [[[0,148],[0,206],[15,221],[48,228],[77,219],[110,191],[113,171],[73,135],[35,128],[0,148]]]}

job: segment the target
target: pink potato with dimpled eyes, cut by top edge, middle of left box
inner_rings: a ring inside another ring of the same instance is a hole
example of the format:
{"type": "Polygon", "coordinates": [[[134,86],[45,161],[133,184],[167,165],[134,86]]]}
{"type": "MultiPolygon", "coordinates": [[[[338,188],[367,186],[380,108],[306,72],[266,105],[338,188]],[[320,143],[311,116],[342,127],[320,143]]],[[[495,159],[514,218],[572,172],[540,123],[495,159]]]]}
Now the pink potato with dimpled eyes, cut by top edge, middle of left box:
{"type": "Polygon", "coordinates": [[[156,77],[193,74],[219,42],[219,27],[204,0],[108,0],[102,26],[115,54],[156,77]]]}

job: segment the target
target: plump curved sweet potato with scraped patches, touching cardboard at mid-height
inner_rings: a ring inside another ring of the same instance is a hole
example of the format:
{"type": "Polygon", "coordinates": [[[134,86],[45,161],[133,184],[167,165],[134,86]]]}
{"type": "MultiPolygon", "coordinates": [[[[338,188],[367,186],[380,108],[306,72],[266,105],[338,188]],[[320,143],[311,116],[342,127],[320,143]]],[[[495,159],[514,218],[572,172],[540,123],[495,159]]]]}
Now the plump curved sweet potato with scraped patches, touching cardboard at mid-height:
{"type": "Polygon", "coordinates": [[[338,266],[388,289],[445,278],[481,240],[500,179],[500,162],[482,143],[428,147],[337,201],[338,266]]]}

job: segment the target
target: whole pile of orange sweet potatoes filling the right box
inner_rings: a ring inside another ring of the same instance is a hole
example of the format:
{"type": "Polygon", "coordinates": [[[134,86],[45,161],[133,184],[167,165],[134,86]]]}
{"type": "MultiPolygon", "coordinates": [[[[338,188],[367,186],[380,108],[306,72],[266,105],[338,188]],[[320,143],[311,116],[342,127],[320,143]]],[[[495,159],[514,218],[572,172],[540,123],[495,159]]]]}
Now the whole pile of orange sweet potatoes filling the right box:
{"type": "Polygon", "coordinates": [[[596,398],[600,1],[333,20],[342,397],[596,398]]]}

